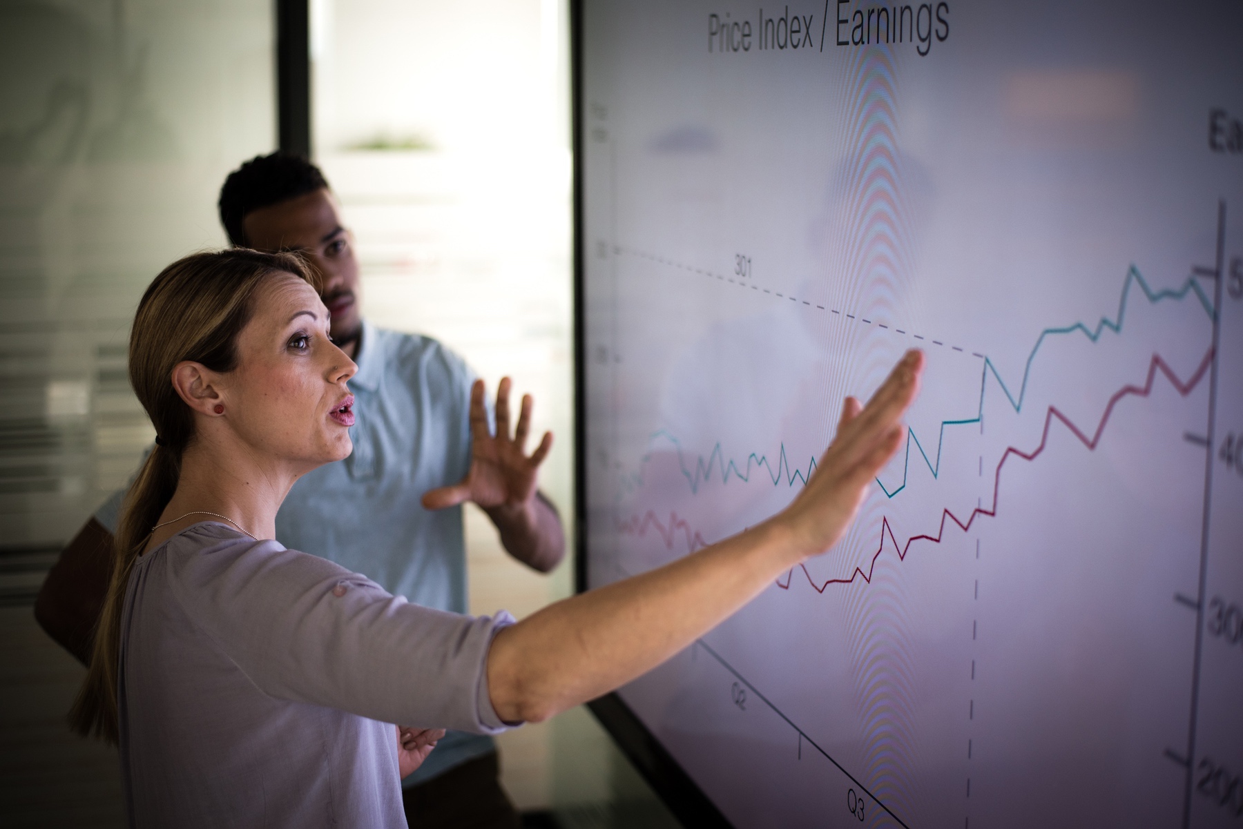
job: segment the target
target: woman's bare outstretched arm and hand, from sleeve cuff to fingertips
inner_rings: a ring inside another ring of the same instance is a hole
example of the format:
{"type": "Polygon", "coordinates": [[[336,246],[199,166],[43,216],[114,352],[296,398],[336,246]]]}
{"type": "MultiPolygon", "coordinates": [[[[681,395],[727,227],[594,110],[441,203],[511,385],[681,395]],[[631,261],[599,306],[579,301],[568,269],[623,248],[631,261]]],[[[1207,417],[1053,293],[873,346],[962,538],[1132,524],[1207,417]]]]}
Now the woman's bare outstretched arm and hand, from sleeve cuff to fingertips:
{"type": "Polygon", "coordinates": [[[507,722],[546,720],[651,670],[832,547],[901,444],[919,390],[912,350],[866,406],[846,398],[838,434],[798,497],[745,533],[671,564],[552,604],[496,634],[488,695],[507,722]]]}

